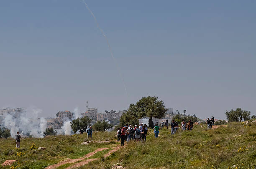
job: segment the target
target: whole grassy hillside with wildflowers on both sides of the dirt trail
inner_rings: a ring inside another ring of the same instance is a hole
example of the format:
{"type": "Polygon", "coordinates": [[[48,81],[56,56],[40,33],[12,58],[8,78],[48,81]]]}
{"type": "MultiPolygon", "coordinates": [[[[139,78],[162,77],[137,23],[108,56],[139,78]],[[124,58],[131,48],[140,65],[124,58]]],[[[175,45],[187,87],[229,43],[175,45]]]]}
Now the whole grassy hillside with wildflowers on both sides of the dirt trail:
{"type": "MultiPolygon", "coordinates": [[[[207,130],[204,126],[194,126],[192,131],[179,131],[171,135],[170,130],[160,131],[154,138],[149,131],[146,143],[131,142],[124,148],[102,158],[104,152],[94,155],[100,160],[89,162],[81,169],[111,169],[113,164],[127,169],[255,169],[256,168],[256,123],[229,123],[227,127],[207,130]]],[[[94,140],[115,140],[116,132],[94,133],[94,140]]],[[[21,148],[15,149],[13,139],[0,139],[0,162],[15,159],[17,168],[44,168],[65,158],[78,158],[99,147],[117,146],[109,143],[81,145],[86,137],[49,136],[44,139],[23,139],[21,148]],[[46,150],[30,149],[32,142],[46,150]],[[82,150],[81,150],[82,149],[82,150]],[[19,156],[21,152],[21,155],[19,156]],[[17,154],[18,153],[18,154],[17,154]]],[[[5,167],[10,168],[10,167],[5,167]]],[[[14,167],[13,167],[14,168],[14,167]]],[[[62,166],[62,168],[65,168],[62,166]]]]}

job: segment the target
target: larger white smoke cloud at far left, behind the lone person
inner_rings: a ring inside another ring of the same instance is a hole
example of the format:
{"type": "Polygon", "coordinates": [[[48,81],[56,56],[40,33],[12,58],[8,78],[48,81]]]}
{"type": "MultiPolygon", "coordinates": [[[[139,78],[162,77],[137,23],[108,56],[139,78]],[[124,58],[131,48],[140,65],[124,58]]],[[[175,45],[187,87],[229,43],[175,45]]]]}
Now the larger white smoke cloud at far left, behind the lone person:
{"type": "Polygon", "coordinates": [[[14,138],[17,131],[33,137],[44,137],[47,123],[44,118],[38,118],[42,110],[30,108],[26,112],[7,114],[4,126],[10,129],[11,136],[14,138]]]}

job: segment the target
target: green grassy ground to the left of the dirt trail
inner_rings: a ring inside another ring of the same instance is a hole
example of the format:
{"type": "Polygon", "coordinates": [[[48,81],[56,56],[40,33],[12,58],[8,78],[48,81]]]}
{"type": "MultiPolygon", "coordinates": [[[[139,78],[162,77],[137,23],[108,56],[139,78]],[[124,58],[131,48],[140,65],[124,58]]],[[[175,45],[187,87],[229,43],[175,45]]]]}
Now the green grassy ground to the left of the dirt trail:
{"type": "MultiPolygon", "coordinates": [[[[94,132],[95,141],[115,140],[113,132],[94,132]]],[[[72,136],[46,136],[45,138],[23,138],[20,142],[20,149],[15,148],[15,139],[0,139],[0,163],[5,160],[16,160],[8,168],[17,169],[43,169],[51,164],[56,164],[66,158],[77,159],[85,154],[95,151],[101,147],[117,146],[115,142],[90,143],[81,145],[87,134],[75,134],[72,136]],[[38,150],[38,147],[46,147],[45,150],[38,150]]],[[[100,156],[96,153],[95,156],[100,156]]],[[[0,165],[0,168],[3,168],[0,165]]]]}

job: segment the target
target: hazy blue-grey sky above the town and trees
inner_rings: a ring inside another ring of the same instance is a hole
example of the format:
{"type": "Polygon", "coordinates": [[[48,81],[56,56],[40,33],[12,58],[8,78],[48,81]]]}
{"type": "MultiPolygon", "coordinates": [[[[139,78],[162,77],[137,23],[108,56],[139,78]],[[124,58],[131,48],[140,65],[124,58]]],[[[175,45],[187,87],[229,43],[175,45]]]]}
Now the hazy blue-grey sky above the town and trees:
{"type": "Polygon", "coordinates": [[[256,1],[0,2],[0,108],[127,109],[143,96],[200,118],[256,114],[256,1]]]}

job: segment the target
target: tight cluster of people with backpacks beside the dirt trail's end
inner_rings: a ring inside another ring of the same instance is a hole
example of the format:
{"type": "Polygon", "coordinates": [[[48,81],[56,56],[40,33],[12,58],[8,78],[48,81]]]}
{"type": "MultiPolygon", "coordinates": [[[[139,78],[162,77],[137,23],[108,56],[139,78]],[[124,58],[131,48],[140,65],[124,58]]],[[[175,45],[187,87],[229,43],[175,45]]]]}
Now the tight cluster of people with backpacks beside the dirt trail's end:
{"type": "Polygon", "coordinates": [[[126,126],[120,127],[117,131],[118,141],[121,140],[121,146],[124,145],[125,141],[127,143],[132,140],[145,142],[147,133],[148,126],[146,124],[140,123],[139,126],[135,125],[134,128],[131,124],[126,124],[126,126]]]}

